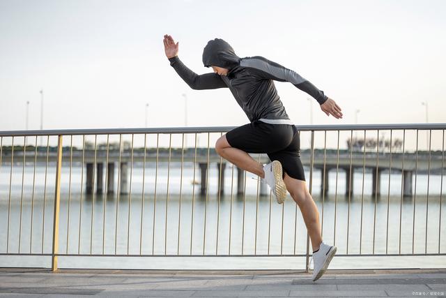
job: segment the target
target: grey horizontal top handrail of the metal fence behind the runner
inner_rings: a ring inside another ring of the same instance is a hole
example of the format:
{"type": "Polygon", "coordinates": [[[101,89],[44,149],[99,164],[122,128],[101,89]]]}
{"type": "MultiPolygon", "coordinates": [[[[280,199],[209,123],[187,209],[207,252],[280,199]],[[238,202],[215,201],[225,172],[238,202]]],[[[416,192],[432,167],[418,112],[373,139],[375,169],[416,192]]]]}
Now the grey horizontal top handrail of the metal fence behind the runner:
{"type": "MultiPolygon", "coordinates": [[[[237,126],[197,126],[174,128],[92,128],[92,129],[49,129],[34,131],[0,131],[0,137],[42,135],[129,135],[140,133],[222,133],[237,126]]],[[[344,124],[344,125],[296,125],[299,131],[363,131],[402,129],[446,129],[446,123],[433,124],[344,124]]]]}

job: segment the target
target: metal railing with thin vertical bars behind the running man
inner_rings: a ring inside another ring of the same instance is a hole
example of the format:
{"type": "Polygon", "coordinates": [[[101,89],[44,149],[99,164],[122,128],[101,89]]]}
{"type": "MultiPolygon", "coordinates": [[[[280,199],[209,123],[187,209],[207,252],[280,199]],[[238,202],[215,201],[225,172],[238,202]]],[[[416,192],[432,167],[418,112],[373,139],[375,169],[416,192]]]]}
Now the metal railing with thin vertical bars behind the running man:
{"type": "MultiPolygon", "coordinates": [[[[53,270],[58,256],[305,257],[308,270],[309,236],[303,233],[298,205],[292,199],[282,206],[273,204],[265,184],[247,179],[247,173],[233,164],[229,164],[231,174],[225,174],[227,162],[217,156],[213,142],[232,128],[0,131],[0,256],[50,256],[53,270]],[[191,139],[193,145],[187,146],[191,139]],[[216,171],[210,168],[212,163],[217,164],[216,171]],[[217,176],[216,186],[212,174],[217,176]],[[230,185],[225,187],[225,181],[230,185]],[[48,215],[47,204],[52,204],[52,214],[48,215]],[[48,216],[52,216],[50,226],[48,216]],[[286,228],[291,225],[292,234],[286,228]],[[23,242],[29,244],[26,249],[23,242]]],[[[322,235],[325,242],[338,246],[338,256],[445,255],[441,217],[445,128],[446,124],[298,126],[309,192],[320,204],[322,235]],[[383,133],[390,133],[386,150],[380,148],[383,133]],[[351,144],[346,149],[341,149],[341,134],[351,144]],[[426,134],[425,150],[420,150],[420,134],[426,134]],[[397,135],[403,139],[398,152],[392,151],[397,135]],[[353,140],[363,139],[365,144],[367,136],[376,136],[376,149],[353,147],[353,140]],[[355,174],[355,169],[360,171],[355,174]],[[387,194],[381,194],[381,177],[387,179],[387,194]],[[367,182],[369,195],[364,193],[366,178],[372,180],[367,182]],[[358,180],[362,185],[355,188],[353,181],[358,180]],[[314,191],[316,186],[320,191],[314,191]],[[424,206],[421,225],[422,211],[417,209],[424,206]],[[433,237],[437,230],[438,237],[433,237]],[[392,244],[396,237],[398,243],[392,244]]],[[[261,163],[269,161],[266,154],[252,156],[261,163]]]]}

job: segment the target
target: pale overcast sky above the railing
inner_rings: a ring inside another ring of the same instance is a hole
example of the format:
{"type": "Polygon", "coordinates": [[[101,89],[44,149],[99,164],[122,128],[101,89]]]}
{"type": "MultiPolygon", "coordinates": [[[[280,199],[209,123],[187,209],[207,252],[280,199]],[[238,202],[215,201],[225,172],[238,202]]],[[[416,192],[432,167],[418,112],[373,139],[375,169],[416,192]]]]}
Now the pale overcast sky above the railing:
{"type": "Polygon", "coordinates": [[[162,38],[206,73],[201,54],[223,38],[239,57],[295,70],[337,101],[344,119],[276,82],[295,124],[446,122],[446,1],[0,0],[0,130],[238,126],[229,89],[194,91],[162,38]],[[359,110],[359,112],[356,112],[359,110]]]}

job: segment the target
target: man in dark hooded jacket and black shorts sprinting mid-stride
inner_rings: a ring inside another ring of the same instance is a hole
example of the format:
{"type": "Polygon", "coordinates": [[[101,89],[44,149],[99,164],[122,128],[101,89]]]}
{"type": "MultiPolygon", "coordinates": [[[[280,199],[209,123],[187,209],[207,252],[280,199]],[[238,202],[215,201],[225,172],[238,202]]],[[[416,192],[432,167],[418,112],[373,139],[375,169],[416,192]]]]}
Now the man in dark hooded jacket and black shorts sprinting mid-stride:
{"type": "Polygon", "coordinates": [[[312,239],[313,281],[321,278],[337,248],[322,240],[318,209],[305,184],[298,131],[286,114],[273,80],[291,82],[307,92],[328,116],[342,118],[341,108],[293,70],[259,56],[240,58],[220,38],[210,40],[204,47],[203,64],[214,70],[204,75],[197,75],[180,61],[179,43],[174,38],[164,35],[163,41],[170,65],[192,89],[229,88],[236,98],[251,123],[222,135],[215,150],[234,165],[265,178],[279,204],[289,191],[312,239]],[[268,154],[272,162],[261,165],[248,153],[268,154]]]}

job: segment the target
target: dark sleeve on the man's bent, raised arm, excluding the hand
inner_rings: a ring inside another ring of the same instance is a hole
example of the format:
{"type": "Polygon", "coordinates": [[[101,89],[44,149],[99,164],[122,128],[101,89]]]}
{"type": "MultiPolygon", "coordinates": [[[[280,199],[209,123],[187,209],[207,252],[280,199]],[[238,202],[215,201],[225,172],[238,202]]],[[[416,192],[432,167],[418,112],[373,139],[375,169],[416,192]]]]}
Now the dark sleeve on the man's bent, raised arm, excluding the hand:
{"type": "Polygon", "coordinates": [[[216,73],[206,73],[204,75],[197,75],[192,70],[187,68],[178,56],[169,58],[170,65],[175,69],[176,73],[192,88],[195,90],[203,89],[218,89],[226,88],[226,84],[223,82],[220,75],[216,73]]]}

